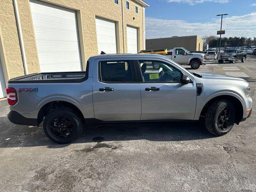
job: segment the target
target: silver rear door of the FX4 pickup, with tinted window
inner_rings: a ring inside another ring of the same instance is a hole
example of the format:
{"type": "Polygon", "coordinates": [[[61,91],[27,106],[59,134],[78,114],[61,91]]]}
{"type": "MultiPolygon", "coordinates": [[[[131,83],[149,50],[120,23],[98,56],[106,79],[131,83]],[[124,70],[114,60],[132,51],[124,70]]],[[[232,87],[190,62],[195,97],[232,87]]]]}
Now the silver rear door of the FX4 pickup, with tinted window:
{"type": "Polygon", "coordinates": [[[140,87],[134,60],[131,58],[94,60],[92,96],[96,119],[140,120],[140,87]]]}

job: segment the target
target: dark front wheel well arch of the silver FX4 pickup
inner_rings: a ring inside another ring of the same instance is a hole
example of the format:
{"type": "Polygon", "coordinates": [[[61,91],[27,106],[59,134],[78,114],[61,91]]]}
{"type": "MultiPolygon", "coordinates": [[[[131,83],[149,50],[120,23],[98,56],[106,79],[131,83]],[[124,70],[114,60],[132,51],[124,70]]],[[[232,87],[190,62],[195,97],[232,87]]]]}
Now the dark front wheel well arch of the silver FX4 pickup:
{"type": "Polygon", "coordinates": [[[208,101],[204,108],[202,109],[202,112],[200,114],[200,116],[205,116],[205,114],[208,111],[209,106],[216,100],[229,100],[230,102],[232,102],[232,104],[234,104],[235,108],[236,108],[236,117],[235,117],[235,123],[239,124],[240,120],[242,120],[243,118],[243,106],[242,103],[235,97],[233,96],[229,96],[229,95],[223,95],[223,96],[217,96],[212,98],[210,101],[208,101]]]}

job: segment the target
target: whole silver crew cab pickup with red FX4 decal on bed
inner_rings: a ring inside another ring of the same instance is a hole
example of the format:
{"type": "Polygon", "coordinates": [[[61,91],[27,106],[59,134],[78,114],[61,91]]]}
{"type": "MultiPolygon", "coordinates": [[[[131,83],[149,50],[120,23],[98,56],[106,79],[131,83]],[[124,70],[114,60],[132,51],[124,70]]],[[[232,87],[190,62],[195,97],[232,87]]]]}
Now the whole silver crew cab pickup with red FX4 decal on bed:
{"type": "Polygon", "coordinates": [[[43,122],[45,134],[57,143],[75,140],[83,125],[200,117],[210,133],[221,136],[252,112],[245,80],[190,73],[158,54],[93,56],[86,72],[30,74],[7,86],[9,120],[32,126],[43,122]]]}

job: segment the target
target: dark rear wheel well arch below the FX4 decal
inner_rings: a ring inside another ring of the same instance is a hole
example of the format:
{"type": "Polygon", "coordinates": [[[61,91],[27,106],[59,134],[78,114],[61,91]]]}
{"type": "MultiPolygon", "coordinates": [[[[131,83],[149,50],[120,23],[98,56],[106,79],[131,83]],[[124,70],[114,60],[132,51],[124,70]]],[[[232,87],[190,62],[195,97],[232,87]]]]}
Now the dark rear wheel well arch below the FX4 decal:
{"type": "Polygon", "coordinates": [[[52,101],[45,104],[38,112],[38,116],[37,116],[38,124],[40,124],[44,120],[44,117],[51,110],[58,109],[58,108],[68,108],[68,109],[74,110],[78,114],[78,116],[81,118],[82,122],[84,123],[84,116],[82,112],[74,104],[66,101],[52,101]]]}

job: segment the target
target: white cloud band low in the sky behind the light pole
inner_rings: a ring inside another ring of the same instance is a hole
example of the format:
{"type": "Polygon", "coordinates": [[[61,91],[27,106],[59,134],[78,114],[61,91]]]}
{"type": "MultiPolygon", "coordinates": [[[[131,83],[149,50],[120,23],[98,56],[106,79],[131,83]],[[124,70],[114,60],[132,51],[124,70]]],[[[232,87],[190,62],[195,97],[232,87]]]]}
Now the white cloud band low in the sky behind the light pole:
{"type": "MultiPolygon", "coordinates": [[[[256,36],[256,12],[242,16],[225,16],[222,30],[226,30],[224,37],[256,36]]],[[[186,22],[184,20],[162,20],[152,17],[146,18],[146,38],[160,38],[170,36],[216,35],[220,30],[220,17],[211,22],[186,22]]]]}

